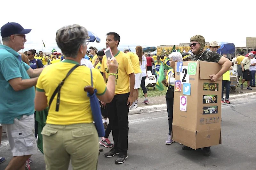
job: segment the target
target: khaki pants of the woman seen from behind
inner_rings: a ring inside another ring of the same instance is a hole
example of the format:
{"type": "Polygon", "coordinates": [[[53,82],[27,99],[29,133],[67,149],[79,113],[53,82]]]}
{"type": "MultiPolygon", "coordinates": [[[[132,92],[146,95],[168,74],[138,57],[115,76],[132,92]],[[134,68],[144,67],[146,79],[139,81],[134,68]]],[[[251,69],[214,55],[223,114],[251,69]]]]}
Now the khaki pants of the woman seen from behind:
{"type": "Polygon", "coordinates": [[[46,124],[42,130],[46,170],[97,169],[98,133],[93,123],[46,124]]]}

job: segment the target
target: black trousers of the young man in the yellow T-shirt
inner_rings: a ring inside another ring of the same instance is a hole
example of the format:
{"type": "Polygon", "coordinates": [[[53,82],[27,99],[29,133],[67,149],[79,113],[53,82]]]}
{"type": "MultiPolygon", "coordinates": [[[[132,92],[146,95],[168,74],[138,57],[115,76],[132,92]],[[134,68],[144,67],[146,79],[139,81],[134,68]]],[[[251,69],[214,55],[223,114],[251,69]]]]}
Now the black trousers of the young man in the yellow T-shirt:
{"type": "Polygon", "coordinates": [[[107,104],[108,119],[112,126],[114,148],[119,154],[126,155],[128,150],[129,106],[127,100],[130,93],[116,94],[113,100],[107,104]]]}

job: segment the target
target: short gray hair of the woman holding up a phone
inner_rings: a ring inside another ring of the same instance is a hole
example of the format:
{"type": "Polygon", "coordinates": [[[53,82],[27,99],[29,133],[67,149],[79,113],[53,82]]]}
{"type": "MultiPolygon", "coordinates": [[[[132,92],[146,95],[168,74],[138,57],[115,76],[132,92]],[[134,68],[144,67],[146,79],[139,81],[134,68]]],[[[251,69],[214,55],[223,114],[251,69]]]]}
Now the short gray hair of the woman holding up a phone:
{"type": "Polygon", "coordinates": [[[64,26],[56,32],[56,42],[64,56],[76,58],[88,38],[87,30],[78,24],[64,26]]]}

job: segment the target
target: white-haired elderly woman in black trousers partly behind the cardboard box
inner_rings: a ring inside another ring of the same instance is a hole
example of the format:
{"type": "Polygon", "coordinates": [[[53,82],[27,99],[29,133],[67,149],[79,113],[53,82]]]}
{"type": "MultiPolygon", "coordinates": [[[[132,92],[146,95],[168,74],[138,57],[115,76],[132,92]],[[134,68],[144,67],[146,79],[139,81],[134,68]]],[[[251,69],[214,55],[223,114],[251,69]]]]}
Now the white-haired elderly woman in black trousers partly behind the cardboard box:
{"type": "Polygon", "coordinates": [[[165,141],[165,144],[172,144],[172,117],[173,117],[173,95],[174,95],[174,82],[175,82],[175,62],[182,61],[182,55],[180,52],[172,52],[169,55],[170,58],[170,66],[172,69],[167,71],[166,79],[162,81],[162,83],[168,87],[165,95],[166,105],[167,105],[167,113],[168,113],[168,122],[169,122],[169,133],[168,138],[165,141]]]}

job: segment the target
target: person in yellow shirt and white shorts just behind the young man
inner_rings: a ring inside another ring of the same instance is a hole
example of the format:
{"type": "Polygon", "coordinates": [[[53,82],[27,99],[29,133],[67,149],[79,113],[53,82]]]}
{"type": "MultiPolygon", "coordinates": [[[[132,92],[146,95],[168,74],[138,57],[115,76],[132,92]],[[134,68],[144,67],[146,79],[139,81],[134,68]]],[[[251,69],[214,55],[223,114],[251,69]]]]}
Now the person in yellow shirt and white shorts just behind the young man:
{"type": "Polygon", "coordinates": [[[138,107],[136,99],[138,99],[139,97],[139,88],[140,88],[140,83],[142,79],[139,56],[133,52],[130,52],[129,49],[124,49],[124,53],[126,53],[130,57],[134,74],[135,74],[133,102],[132,102],[132,106],[130,106],[129,109],[136,109],[136,107],[138,107]]]}

